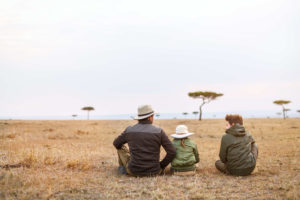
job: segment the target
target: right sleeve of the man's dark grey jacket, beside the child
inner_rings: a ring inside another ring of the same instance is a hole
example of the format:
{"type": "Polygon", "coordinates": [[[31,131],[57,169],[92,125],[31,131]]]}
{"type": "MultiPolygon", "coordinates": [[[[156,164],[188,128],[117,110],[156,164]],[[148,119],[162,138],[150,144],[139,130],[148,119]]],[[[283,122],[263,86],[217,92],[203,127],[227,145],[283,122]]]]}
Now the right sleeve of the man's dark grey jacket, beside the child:
{"type": "Polygon", "coordinates": [[[161,145],[167,152],[167,155],[164,157],[164,159],[160,162],[160,167],[164,169],[176,156],[176,149],[173,146],[172,142],[169,140],[166,133],[162,130],[161,131],[161,145]]]}

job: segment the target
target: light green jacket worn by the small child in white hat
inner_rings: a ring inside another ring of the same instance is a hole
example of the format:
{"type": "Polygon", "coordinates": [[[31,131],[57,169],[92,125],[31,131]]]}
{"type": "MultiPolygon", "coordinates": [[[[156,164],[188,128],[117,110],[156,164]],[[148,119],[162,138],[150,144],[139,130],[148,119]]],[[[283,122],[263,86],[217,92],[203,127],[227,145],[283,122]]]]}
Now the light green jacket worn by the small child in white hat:
{"type": "Polygon", "coordinates": [[[181,146],[180,139],[174,139],[176,157],[171,162],[171,169],[175,171],[195,170],[195,164],[200,161],[197,145],[189,138],[184,139],[185,147],[181,146]]]}

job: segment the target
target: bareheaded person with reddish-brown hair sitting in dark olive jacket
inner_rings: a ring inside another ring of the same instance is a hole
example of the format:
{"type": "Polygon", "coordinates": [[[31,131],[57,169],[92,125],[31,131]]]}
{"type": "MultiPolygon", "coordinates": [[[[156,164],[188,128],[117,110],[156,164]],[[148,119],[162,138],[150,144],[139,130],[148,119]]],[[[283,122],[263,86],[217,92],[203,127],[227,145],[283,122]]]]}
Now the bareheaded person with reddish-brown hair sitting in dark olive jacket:
{"type": "Polygon", "coordinates": [[[226,115],[226,134],[220,147],[216,168],[227,174],[247,176],[256,165],[258,148],[253,137],[243,127],[240,115],[226,115]]]}

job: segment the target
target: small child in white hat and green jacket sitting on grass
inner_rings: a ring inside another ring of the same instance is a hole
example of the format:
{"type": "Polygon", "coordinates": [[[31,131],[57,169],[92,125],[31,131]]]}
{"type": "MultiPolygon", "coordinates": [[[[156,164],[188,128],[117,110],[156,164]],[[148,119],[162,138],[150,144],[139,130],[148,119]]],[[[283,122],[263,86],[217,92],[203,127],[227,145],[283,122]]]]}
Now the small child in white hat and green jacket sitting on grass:
{"type": "Polygon", "coordinates": [[[185,125],[178,125],[176,133],[172,134],[174,138],[173,145],[176,149],[176,156],[171,162],[172,172],[189,172],[196,170],[196,163],[200,161],[197,145],[190,138],[188,128],[185,125]]]}

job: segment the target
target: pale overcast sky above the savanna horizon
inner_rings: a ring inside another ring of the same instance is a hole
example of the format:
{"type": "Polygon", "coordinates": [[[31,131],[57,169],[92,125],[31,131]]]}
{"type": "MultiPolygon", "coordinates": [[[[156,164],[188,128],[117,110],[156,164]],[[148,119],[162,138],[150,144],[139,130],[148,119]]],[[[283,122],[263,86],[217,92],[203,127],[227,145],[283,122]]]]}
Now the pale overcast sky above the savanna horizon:
{"type": "Polygon", "coordinates": [[[0,116],[300,109],[297,0],[1,0],[0,116]]]}

